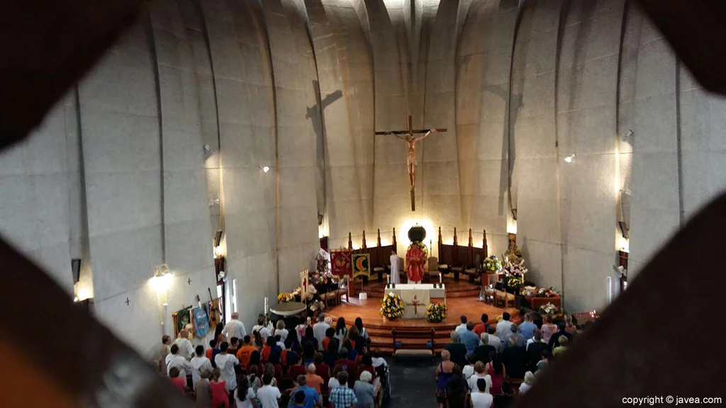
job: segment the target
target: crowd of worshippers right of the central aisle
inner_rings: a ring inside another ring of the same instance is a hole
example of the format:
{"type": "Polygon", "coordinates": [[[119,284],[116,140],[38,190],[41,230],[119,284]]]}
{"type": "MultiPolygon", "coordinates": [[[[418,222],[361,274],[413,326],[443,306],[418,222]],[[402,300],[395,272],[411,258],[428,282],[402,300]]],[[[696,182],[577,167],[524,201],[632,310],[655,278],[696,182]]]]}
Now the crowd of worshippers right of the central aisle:
{"type": "Polygon", "coordinates": [[[436,367],[439,406],[444,408],[500,408],[509,406],[516,395],[526,393],[547,370],[548,364],[566,352],[576,334],[570,316],[553,323],[543,318],[542,327],[528,313],[516,325],[505,312],[496,325],[461,317],[451,333],[451,343],[441,352],[436,367]]]}

